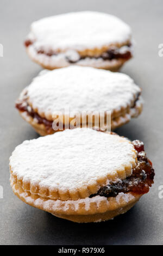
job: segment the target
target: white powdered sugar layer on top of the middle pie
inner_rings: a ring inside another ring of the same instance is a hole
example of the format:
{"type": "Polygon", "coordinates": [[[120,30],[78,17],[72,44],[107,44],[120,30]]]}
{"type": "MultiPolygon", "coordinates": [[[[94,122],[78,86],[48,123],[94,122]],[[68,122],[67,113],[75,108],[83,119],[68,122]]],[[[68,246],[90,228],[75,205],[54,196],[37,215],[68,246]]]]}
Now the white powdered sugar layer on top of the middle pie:
{"type": "Polygon", "coordinates": [[[72,115],[82,111],[112,112],[130,105],[140,92],[125,74],[81,66],[37,76],[27,89],[33,108],[54,115],[66,106],[72,115]]]}

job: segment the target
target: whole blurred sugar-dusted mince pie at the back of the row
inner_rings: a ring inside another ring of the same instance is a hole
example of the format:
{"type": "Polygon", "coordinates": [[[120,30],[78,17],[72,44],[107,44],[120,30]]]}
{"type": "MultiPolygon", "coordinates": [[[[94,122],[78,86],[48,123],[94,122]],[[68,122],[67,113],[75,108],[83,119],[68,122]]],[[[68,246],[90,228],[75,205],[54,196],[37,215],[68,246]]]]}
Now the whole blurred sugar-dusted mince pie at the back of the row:
{"type": "Polygon", "coordinates": [[[117,71],[131,53],[128,57],[111,54],[108,59],[103,53],[115,49],[130,52],[130,43],[131,31],[126,23],[115,16],[93,11],[33,22],[25,41],[29,57],[50,70],[76,64],[117,71]]]}

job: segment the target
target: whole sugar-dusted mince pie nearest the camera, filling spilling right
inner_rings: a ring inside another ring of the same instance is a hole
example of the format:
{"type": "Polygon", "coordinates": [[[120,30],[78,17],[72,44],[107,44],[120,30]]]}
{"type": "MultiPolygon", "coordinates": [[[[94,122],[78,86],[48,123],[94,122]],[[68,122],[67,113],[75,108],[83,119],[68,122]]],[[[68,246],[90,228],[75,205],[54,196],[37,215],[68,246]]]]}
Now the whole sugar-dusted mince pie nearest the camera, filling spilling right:
{"type": "Polygon", "coordinates": [[[74,222],[123,214],[149,191],[153,178],[142,142],[91,129],[24,141],[10,157],[16,196],[74,222]]]}

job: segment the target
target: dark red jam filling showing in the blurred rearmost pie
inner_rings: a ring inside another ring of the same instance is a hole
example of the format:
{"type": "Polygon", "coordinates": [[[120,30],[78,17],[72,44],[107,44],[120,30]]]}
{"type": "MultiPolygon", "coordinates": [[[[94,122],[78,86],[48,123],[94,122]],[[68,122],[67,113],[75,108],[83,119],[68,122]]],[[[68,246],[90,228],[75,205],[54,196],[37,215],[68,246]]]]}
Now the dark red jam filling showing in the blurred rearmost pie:
{"type": "MultiPolygon", "coordinates": [[[[26,41],[24,41],[24,45],[26,47],[28,47],[29,45],[32,45],[33,42],[29,39],[27,39],[26,41]]],[[[126,46],[130,47],[131,44],[127,44],[126,46]]],[[[39,54],[46,54],[47,56],[53,56],[53,55],[57,55],[57,53],[54,53],[53,51],[49,50],[48,52],[45,52],[44,50],[37,50],[37,53],[39,54]]],[[[66,57],[67,61],[69,63],[77,63],[79,60],[82,60],[82,59],[85,59],[85,58],[102,58],[103,60],[112,60],[112,59],[125,59],[125,60],[129,60],[130,58],[132,57],[132,54],[131,54],[131,51],[130,50],[127,50],[126,52],[124,53],[120,53],[118,51],[118,48],[115,48],[115,49],[110,49],[106,52],[103,52],[101,54],[101,56],[98,56],[98,57],[90,57],[90,56],[84,56],[84,57],[80,57],[78,60],[73,60],[71,59],[71,57],[66,57]]]]}

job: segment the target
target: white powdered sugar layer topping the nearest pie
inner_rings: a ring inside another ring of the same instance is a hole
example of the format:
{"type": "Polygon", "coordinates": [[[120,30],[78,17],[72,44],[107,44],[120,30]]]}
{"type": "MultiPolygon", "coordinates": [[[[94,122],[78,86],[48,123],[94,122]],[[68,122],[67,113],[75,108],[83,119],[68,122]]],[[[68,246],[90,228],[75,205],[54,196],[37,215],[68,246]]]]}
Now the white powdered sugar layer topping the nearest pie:
{"type": "Polygon", "coordinates": [[[134,162],[126,138],[91,129],[74,129],[24,141],[10,157],[18,179],[40,187],[74,191],[134,162]]]}

